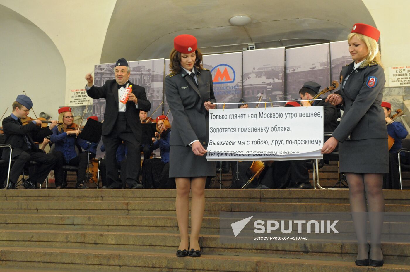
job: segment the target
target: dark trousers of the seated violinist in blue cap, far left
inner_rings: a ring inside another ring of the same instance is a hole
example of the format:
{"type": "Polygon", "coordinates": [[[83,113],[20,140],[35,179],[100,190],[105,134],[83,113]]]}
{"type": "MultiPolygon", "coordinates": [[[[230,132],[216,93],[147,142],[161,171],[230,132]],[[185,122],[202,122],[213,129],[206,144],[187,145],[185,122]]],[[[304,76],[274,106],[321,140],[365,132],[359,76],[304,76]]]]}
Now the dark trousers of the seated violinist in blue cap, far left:
{"type": "Polygon", "coordinates": [[[34,184],[43,184],[43,181],[48,176],[55,164],[55,157],[51,154],[46,154],[43,151],[27,150],[21,152],[20,155],[14,156],[16,160],[10,169],[10,181],[17,183],[18,177],[21,175],[23,168],[27,167],[30,161],[39,163],[36,167],[29,168],[30,181],[34,184]]]}

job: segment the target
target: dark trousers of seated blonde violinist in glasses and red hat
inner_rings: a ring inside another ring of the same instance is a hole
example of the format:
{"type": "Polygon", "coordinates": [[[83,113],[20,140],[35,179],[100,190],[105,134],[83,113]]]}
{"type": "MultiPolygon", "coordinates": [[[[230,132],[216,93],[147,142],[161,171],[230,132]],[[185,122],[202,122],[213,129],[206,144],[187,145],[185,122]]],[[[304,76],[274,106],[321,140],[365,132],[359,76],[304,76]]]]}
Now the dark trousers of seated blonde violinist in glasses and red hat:
{"type": "MultiPolygon", "coordinates": [[[[89,159],[94,159],[96,157],[96,154],[89,152],[90,157],[89,159]]],[[[77,184],[83,184],[85,181],[85,174],[87,172],[87,166],[89,163],[88,160],[88,152],[82,152],[75,158],[71,159],[68,163],[66,162],[66,159],[64,159],[64,154],[61,151],[54,151],[52,153],[55,158],[56,158],[56,163],[54,165],[54,175],[55,175],[55,186],[62,186],[64,183],[66,184],[67,181],[64,180],[64,171],[63,171],[63,165],[73,165],[73,166],[78,166],[78,171],[77,171],[77,184]]]]}

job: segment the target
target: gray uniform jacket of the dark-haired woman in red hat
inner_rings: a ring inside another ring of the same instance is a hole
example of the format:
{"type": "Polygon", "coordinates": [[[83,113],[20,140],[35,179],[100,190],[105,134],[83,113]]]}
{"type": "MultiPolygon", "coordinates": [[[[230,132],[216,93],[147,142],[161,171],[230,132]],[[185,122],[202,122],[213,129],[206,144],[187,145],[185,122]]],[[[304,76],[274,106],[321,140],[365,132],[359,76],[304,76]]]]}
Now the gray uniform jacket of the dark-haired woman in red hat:
{"type": "Polygon", "coordinates": [[[216,102],[212,74],[207,69],[194,69],[198,87],[183,69],[165,77],[166,101],[173,116],[170,145],[189,146],[195,140],[208,144],[209,116],[203,104],[216,102]]]}

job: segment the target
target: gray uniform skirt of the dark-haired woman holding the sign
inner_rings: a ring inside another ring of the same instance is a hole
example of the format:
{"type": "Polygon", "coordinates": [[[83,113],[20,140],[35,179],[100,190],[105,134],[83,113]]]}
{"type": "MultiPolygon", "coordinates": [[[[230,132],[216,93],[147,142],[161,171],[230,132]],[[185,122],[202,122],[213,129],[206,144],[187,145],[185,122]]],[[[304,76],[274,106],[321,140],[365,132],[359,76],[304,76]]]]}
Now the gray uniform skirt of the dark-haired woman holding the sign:
{"type": "Polygon", "coordinates": [[[190,146],[170,145],[169,177],[214,177],[216,162],[207,161],[206,155],[195,155],[190,146]]]}

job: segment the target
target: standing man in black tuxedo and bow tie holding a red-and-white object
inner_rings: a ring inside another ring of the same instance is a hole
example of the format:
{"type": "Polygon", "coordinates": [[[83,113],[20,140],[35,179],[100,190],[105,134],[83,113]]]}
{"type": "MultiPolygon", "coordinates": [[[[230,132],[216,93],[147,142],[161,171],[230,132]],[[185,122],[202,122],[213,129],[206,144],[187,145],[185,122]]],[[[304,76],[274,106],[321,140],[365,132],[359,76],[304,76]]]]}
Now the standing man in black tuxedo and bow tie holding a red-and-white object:
{"type": "Polygon", "coordinates": [[[139,169],[141,156],[139,144],[141,142],[141,122],[139,111],[149,111],[151,103],[145,95],[145,88],[132,84],[131,69],[125,59],[118,59],[114,67],[115,79],[107,80],[102,87],[93,85],[93,77],[87,74],[87,94],[94,98],[105,98],[105,113],[103,123],[103,143],[107,160],[107,183],[111,188],[122,188],[118,182],[116,167],[116,151],[123,141],[128,149],[125,181],[129,188],[142,188],[139,183],[139,169]],[[123,104],[120,100],[125,89],[132,85],[132,92],[128,94],[128,101],[123,104]]]}

